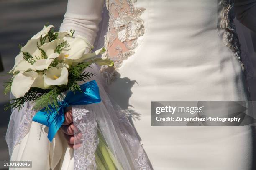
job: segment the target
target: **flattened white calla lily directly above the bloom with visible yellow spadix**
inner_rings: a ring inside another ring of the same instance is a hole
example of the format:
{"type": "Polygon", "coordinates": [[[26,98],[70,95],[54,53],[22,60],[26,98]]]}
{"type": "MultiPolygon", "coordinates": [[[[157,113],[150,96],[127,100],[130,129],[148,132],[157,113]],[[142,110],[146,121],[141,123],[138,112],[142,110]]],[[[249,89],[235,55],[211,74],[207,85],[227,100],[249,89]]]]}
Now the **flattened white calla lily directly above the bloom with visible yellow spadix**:
{"type": "Polygon", "coordinates": [[[36,62],[33,64],[33,67],[39,71],[48,69],[49,65],[51,65],[51,62],[53,62],[57,57],[59,57],[59,54],[55,52],[51,54],[47,59],[36,60],[36,62]]]}

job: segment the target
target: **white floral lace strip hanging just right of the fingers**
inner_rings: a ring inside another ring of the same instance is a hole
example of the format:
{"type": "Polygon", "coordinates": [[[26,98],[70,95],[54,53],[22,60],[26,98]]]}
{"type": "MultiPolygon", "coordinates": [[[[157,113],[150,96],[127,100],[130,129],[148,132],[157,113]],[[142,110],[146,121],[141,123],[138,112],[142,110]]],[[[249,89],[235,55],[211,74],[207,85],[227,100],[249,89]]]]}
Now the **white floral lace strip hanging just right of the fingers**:
{"type": "MultiPolygon", "coordinates": [[[[74,126],[82,134],[82,145],[74,150],[74,169],[75,170],[96,170],[95,151],[99,143],[97,137],[97,122],[94,112],[89,112],[81,106],[74,106],[72,109],[74,126]]],[[[76,140],[74,141],[76,143],[76,140]]]]}

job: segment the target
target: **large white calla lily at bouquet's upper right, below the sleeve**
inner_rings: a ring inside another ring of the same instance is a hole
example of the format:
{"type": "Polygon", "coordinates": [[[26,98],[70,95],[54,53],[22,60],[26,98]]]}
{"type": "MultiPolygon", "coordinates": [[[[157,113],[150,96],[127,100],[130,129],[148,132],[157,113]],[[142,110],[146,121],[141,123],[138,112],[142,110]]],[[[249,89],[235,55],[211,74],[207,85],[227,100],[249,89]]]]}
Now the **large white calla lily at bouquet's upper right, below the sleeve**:
{"type": "Polygon", "coordinates": [[[92,48],[90,42],[82,36],[65,36],[63,39],[68,43],[68,47],[61,52],[64,59],[78,60],[82,58],[86,49],[92,48]]]}

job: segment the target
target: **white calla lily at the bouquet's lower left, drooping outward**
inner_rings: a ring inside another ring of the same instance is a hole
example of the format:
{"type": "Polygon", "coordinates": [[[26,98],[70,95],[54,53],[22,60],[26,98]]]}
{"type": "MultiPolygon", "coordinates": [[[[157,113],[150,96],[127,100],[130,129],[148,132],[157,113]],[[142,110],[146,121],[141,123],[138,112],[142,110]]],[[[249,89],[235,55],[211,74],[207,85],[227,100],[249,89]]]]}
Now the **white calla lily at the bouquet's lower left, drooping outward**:
{"type": "Polygon", "coordinates": [[[37,72],[29,71],[24,73],[18,73],[13,78],[11,92],[16,98],[23,97],[30,89],[31,85],[38,76],[37,72]]]}

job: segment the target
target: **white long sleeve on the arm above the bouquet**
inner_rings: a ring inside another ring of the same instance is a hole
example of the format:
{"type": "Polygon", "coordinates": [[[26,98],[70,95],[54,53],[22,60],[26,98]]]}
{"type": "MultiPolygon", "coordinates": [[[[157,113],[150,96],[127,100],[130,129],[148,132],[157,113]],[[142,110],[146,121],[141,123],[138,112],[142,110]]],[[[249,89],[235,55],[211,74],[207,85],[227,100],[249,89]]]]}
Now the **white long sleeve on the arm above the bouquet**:
{"type": "Polygon", "coordinates": [[[95,41],[104,0],[68,0],[60,31],[75,30],[74,35],[86,37],[91,44],[95,41]]]}

